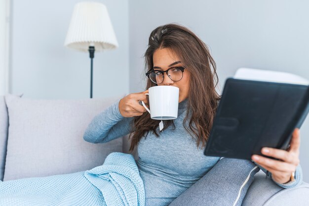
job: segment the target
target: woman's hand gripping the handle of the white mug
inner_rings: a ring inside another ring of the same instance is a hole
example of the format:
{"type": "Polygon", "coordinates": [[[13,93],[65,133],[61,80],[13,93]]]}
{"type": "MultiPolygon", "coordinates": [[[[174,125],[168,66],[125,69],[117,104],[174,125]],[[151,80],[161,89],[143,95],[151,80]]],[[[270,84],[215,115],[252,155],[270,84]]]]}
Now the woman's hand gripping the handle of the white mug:
{"type": "Polygon", "coordinates": [[[145,111],[145,107],[139,103],[143,101],[145,104],[148,103],[147,95],[148,90],[139,93],[132,93],[119,101],[119,111],[123,117],[134,117],[141,116],[145,111]]]}

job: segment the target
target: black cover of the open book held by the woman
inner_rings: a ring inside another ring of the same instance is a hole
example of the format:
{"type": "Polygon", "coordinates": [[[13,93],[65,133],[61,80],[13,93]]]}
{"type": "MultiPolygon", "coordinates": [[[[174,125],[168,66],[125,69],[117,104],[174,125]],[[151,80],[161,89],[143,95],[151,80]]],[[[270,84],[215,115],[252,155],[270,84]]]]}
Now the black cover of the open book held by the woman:
{"type": "Polygon", "coordinates": [[[228,78],[204,154],[251,160],[262,147],[287,149],[308,111],[308,86],[228,78]]]}

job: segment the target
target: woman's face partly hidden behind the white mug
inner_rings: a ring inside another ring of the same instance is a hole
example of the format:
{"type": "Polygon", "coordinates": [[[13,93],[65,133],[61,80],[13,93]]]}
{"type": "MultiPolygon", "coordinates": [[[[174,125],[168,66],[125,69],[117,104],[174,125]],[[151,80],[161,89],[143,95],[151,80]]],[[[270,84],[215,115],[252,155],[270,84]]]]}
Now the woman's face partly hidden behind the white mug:
{"type": "MultiPolygon", "coordinates": [[[[183,66],[180,59],[176,54],[173,54],[169,48],[157,49],[153,55],[154,69],[156,70],[167,70],[170,67],[183,66]],[[178,63],[177,63],[178,62],[178,63]],[[176,63],[176,64],[175,64],[176,63]]],[[[164,72],[163,82],[157,84],[158,86],[167,85],[175,86],[179,88],[179,103],[188,98],[189,91],[189,72],[187,69],[184,70],[183,78],[180,81],[173,81],[164,72]]]]}

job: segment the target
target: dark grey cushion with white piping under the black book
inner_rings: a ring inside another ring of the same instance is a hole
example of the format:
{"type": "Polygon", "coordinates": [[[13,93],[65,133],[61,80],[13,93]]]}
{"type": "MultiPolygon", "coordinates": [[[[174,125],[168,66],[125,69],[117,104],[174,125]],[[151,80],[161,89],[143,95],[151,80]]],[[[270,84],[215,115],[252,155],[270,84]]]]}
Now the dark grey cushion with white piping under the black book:
{"type": "Polygon", "coordinates": [[[170,206],[240,206],[259,170],[249,160],[222,158],[170,206]]]}

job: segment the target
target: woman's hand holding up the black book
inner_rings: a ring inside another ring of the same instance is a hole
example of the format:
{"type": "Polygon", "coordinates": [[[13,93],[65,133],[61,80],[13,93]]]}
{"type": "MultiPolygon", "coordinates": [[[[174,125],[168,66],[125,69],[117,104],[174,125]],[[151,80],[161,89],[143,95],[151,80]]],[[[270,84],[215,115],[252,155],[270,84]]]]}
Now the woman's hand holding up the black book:
{"type": "Polygon", "coordinates": [[[261,155],[252,155],[252,160],[260,166],[271,172],[272,179],[280,184],[287,183],[290,180],[292,172],[300,163],[299,160],[300,132],[296,128],[292,134],[290,147],[288,150],[263,147],[261,152],[264,155],[277,158],[273,160],[261,155]]]}

